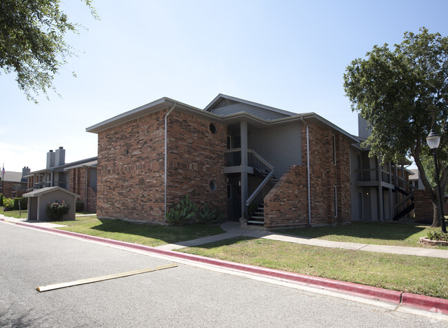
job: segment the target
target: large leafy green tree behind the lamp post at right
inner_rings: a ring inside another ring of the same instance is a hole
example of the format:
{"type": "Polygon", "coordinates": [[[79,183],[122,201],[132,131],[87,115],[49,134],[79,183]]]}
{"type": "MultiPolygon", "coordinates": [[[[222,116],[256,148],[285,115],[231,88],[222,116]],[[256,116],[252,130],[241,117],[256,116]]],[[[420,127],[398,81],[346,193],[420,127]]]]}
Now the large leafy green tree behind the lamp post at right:
{"type": "MultiPolygon", "coordinates": [[[[413,157],[425,191],[434,204],[433,226],[441,221],[437,188],[429,182],[423,163],[432,158],[426,138],[431,129],[441,136],[438,149],[440,183],[447,184],[448,38],[405,32],[390,50],[374,46],[366,58],[352,61],[344,74],[345,93],[371,127],[365,146],[383,161],[413,157]],[[431,157],[430,157],[431,156],[431,157]]],[[[433,162],[434,165],[434,162],[433,162]]],[[[434,179],[431,179],[434,181],[434,179]]],[[[442,224],[442,230],[444,230],[442,224]]]]}

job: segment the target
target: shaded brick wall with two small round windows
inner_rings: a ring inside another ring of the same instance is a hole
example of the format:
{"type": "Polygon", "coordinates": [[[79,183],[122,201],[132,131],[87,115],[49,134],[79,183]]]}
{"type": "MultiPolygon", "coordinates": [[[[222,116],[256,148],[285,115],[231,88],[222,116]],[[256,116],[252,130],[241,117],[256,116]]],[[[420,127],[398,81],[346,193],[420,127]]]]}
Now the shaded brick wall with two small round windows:
{"type": "Polygon", "coordinates": [[[168,116],[168,208],[188,194],[200,208],[208,203],[227,213],[226,146],[225,125],[176,110],[168,116]],[[216,133],[210,131],[211,123],[216,133]],[[214,191],[210,190],[212,180],[214,191]]]}

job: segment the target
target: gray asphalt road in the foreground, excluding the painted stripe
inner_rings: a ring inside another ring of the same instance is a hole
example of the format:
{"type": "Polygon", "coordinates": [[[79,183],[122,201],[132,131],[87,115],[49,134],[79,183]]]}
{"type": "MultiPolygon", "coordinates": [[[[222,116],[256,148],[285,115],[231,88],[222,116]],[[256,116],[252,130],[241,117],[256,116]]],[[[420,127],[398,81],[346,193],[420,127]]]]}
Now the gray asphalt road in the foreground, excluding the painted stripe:
{"type": "Polygon", "coordinates": [[[0,222],[1,327],[447,327],[447,321],[179,264],[0,222]]]}

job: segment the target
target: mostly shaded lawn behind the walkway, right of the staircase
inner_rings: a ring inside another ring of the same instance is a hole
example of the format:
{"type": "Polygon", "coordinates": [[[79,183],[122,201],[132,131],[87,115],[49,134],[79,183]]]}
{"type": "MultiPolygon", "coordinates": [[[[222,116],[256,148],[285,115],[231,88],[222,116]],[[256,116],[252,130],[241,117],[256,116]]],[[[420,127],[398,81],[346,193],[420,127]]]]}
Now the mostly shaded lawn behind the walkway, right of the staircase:
{"type": "Polygon", "coordinates": [[[440,230],[440,228],[430,228],[429,226],[419,226],[412,223],[358,221],[344,226],[292,228],[275,230],[274,232],[329,241],[426,248],[431,246],[419,243],[418,239],[426,237],[429,230],[440,230]]]}

